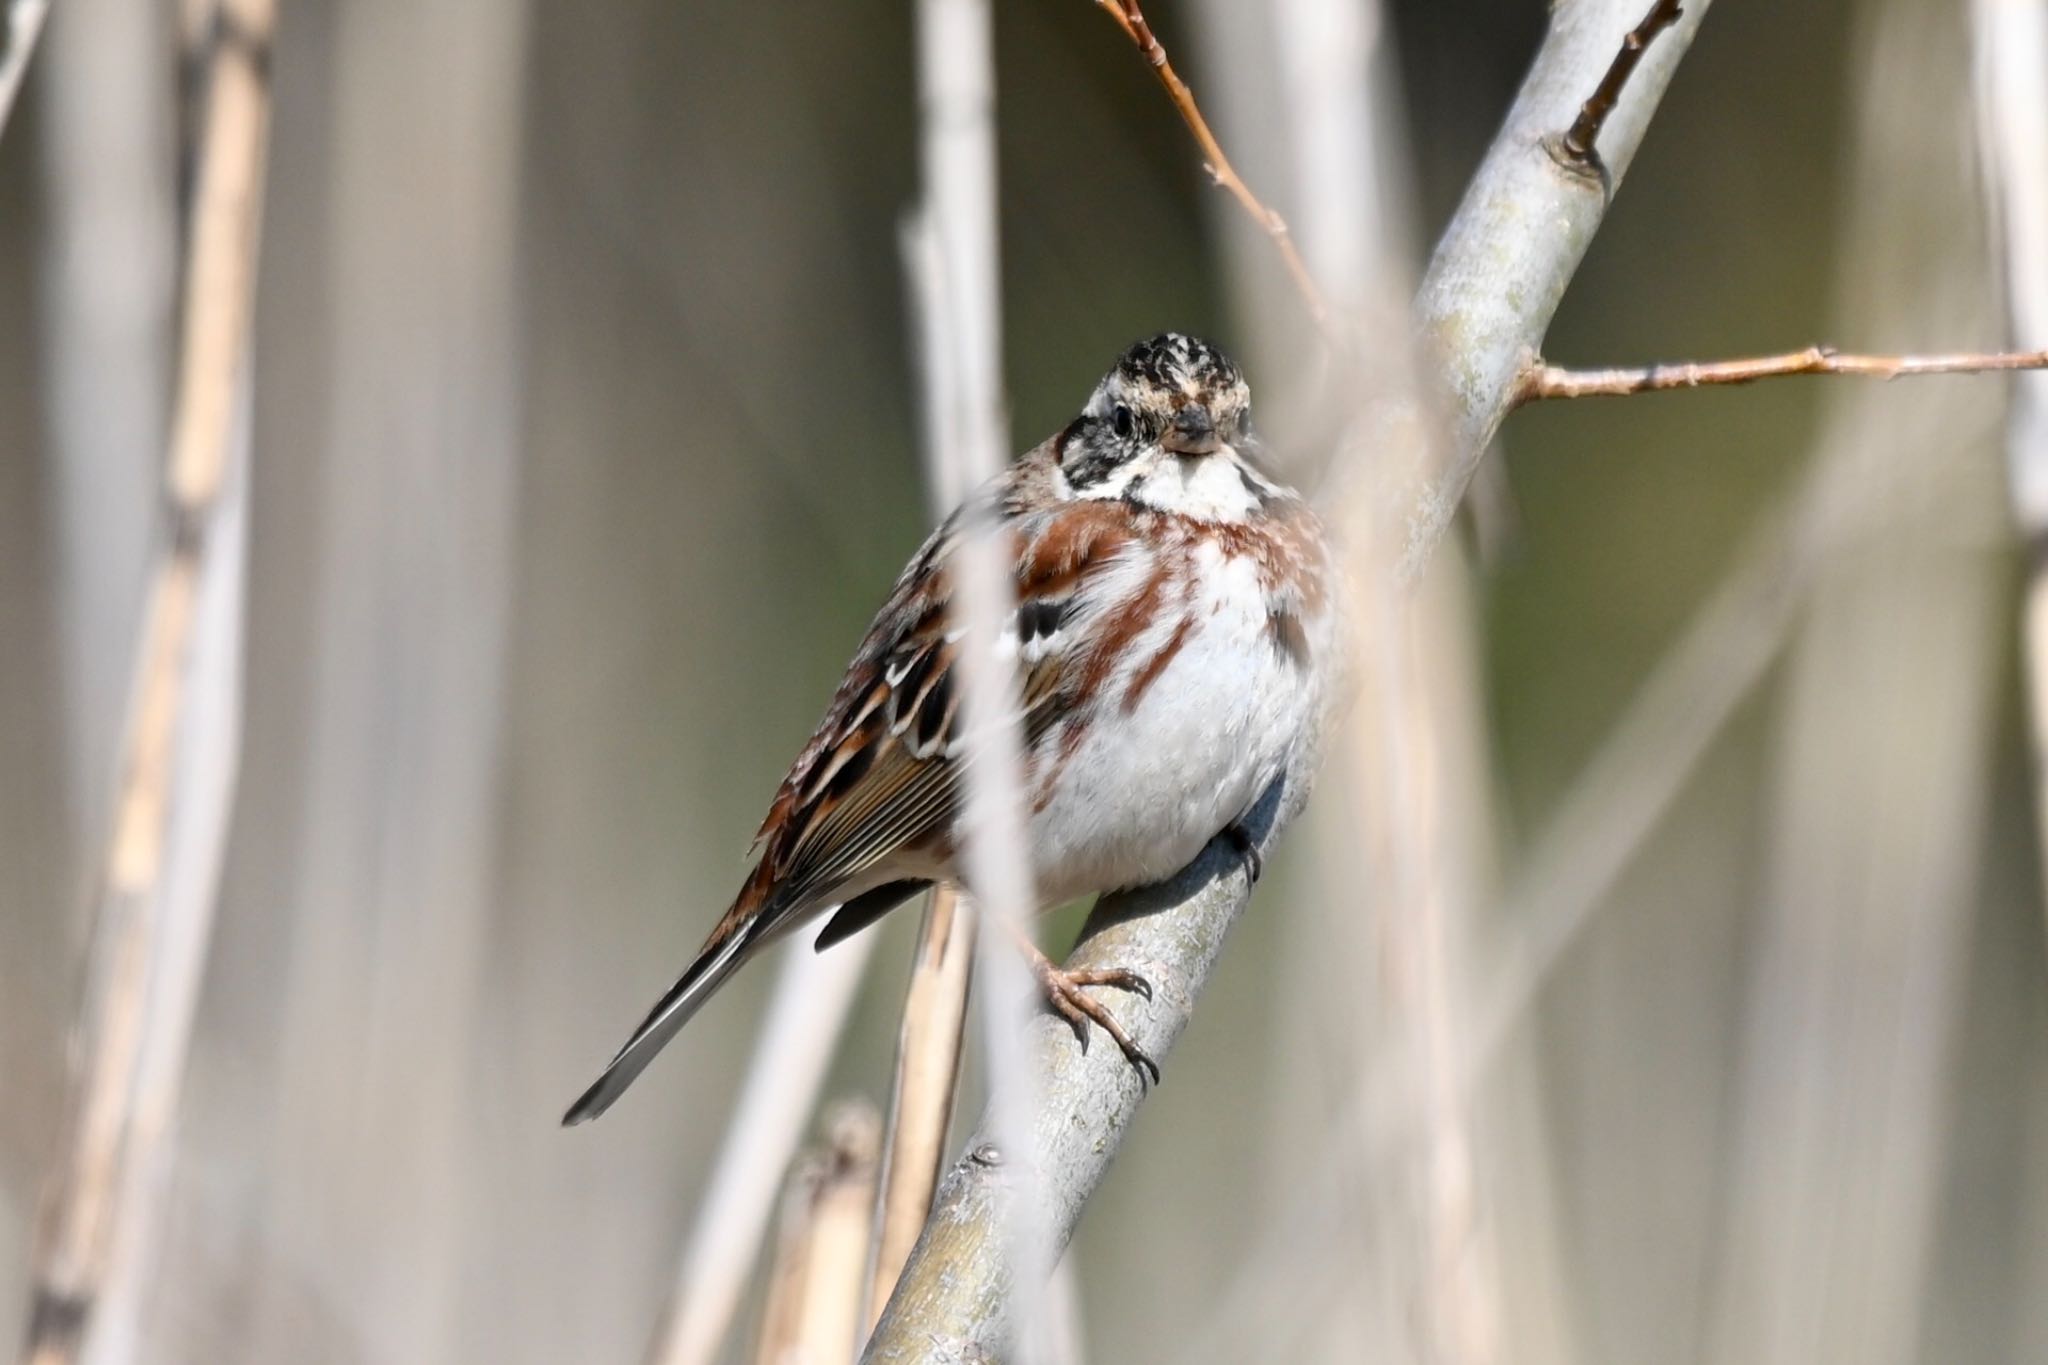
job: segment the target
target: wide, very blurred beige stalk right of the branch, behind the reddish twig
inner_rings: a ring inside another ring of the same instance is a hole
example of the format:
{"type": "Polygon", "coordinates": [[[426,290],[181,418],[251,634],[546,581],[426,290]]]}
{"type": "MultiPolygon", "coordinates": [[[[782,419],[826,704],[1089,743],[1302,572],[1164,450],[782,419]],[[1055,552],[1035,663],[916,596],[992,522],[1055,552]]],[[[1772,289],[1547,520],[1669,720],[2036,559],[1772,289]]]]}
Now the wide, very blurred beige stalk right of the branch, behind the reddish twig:
{"type": "MultiPolygon", "coordinates": [[[[1991,321],[1966,137],[1968,16],[1862,16],[1843,323],[1991,321]]],[[[2005,577],[1982,385],[1843,389],[1823,460],[1851,522],[1815,575],[1782,743],[1706,1357],[1905,1363],[1925,1349],[1962,964],[1976,915],[2005,577]]]]}

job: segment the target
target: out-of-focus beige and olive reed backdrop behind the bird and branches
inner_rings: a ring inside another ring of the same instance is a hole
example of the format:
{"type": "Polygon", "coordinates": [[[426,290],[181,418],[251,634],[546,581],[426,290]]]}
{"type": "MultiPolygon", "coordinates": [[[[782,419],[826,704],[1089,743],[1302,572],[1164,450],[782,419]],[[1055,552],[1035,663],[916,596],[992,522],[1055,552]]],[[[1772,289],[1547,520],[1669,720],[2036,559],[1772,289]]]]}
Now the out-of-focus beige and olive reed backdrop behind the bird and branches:
{"type": "MultiPolygon", "coordinates": [[[[1155,8],[1294,213],[1262,6],[1155,8]]],[[[1409,268],[1544,12],[1386,0],[1409,268]]],[[[0,1340],[156,534],[176,23],[61,0],[0,139],[0,1340]]],[[[1714,6],[1548,354],[1995,348],[1968,23],[1714,6]]],[[[135,1359],[639,1359],[774,972],[557,1119],[928,526],[911,39],[870,0],[287,0],[242,776],[135,1359]]],[[[1284,399],[1298,309],[1114,25],[999,4],[997,49],[1012,444],[1165,327],[1284,399]]],[[[1333,784],[1081,1224],[1092,1359],[2048,1361],[2005,397],[1509,422],[1450,551],[1470,1103],[1370,1085],[1407,950],[1333,784]]],[[[829,1095],[887,1101],[893,921],[829,1095]]]]}

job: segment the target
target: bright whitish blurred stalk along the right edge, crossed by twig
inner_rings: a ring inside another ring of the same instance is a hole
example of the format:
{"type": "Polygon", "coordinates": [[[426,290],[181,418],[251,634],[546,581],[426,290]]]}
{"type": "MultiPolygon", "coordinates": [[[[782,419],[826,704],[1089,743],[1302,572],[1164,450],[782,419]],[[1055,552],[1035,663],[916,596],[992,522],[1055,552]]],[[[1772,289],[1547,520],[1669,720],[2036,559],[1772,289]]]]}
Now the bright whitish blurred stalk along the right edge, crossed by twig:
{"type": "MultiPolygon", "coordinates": [[[[1976,0],[1976,125],[2001,252],[2009,344],[2048,346],[2048,0],[1976,0]]],[[[2013,381],[2005,430],[2028,555],[2019,645],[2034,737],[2036,843],[2048,882],[2048,377],[2013,381]]]]}

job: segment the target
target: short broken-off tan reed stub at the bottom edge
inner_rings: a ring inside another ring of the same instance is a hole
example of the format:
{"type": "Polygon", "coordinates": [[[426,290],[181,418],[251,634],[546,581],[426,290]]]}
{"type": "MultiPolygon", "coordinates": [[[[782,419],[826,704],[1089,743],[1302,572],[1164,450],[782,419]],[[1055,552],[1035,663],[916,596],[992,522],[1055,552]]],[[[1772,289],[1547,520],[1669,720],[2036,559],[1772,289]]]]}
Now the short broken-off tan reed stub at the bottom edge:
{"type": "Polygon", "coordinates": [[[881,1119],[860,1101],[825,1128],[788,1173],[754,1365],[844,1365],[860,1340],[881,1119]]]}

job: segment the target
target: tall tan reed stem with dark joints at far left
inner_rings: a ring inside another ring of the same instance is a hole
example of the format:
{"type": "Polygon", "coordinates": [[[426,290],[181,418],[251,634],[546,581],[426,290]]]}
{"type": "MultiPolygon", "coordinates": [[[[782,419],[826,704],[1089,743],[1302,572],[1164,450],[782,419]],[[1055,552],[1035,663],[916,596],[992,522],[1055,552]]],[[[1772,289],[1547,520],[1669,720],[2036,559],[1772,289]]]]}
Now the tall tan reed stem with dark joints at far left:
{"type": "MultiPolygon", "coordinates": [[[[180,907],[203,923],[170,923],[168,845],[180,831],[217,821],[176,810],[182,769],[207,759],[180,747],[195,696],[195,620],[201,583],[221,553],[215,530],[244,401],[256,241],[262,205],[270,92],[272,0],[227,0],[209,53],[209,98],[199,137],[199,178],[186,256],[184,327],[178,352],[164,546],[152,571],[135,694],[121,753],[117,806],[100,870],[80,1036],[82,1066],[70,1099],[63,1148],[45,1189],[29,1332],[23,1361],[57,1365],[78,1357],[92,1310],[109,1291],[109,1267],[125,1238],[145,1234],[123,1173],[150,1166],[137,1146],[162,1142],[164,1124],[141,1124],[145,1044],[188,1036],[170,1009],[188,1009],[211,925],[213,900],[180,907]]],[[[209,673],[231,686],[236,669],[209,673]]],[[[225,802],[231,782],[217,790],[225,802]]],[[[195,855],[199,855],[195,851],[195,855]]],[[[217,855],[217,851],[215,851],[217,855]]],[[[162,1064],[182,1072],[182,1052],[162,1064]]],[[[162,1103],[162,1081],[150,1089],[162,1103]]],[[[170,1085],[174,1093],[174,1083],[170,1085]]]]}

